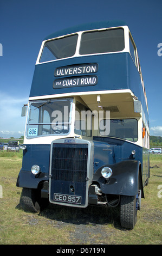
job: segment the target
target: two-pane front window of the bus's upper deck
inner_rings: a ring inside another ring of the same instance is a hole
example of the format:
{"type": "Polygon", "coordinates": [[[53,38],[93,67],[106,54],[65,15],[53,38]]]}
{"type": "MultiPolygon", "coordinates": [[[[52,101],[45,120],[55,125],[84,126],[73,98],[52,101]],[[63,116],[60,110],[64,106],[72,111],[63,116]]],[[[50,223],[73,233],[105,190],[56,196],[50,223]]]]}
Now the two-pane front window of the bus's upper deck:
{"type": "Polygon", "coordinates": [[[40,63],[72,57],[77,54],[96,54],[119,52],[124,50],[124,29],[105,29],[103,31],[82,32],[78,42],[78,34],[64,36],[45,42],[40,63]],[[79,52],[76,45],[79,44],[79,52]]]}

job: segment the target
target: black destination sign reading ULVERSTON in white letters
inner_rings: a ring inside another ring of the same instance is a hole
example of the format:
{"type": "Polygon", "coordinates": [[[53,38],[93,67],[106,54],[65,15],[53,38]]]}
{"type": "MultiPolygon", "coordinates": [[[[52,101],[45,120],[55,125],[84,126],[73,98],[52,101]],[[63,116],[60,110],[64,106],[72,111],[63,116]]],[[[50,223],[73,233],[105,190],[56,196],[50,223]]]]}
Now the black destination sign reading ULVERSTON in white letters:
{"type": "Polygon", "coordinates": [[[81,64],[73,66],[63,66],[55,69],[55,77],[90,74],[98,71],[98,64],[81,64]]]}

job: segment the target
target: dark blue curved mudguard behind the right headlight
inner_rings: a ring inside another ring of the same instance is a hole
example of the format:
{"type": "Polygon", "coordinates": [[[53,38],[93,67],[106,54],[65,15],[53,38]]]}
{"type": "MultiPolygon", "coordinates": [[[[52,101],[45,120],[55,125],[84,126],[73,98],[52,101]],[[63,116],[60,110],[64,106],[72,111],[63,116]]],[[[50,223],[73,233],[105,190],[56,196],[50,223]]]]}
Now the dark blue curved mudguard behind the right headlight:
{"type": "Polygon", "coordinates": [[[140,164],[139,161],[126,160],[119,163],[104,165],[96,170],[93,176],[93,182],[98,182],[102,193],[105,194],[135,196],[138,193],[138,190],[141,189],[142,195],[144,196],[140,164]],[[101,175],[102,168],[106,166],[110,167],[113,171],[112,176],[108,180],[101,175]]]}

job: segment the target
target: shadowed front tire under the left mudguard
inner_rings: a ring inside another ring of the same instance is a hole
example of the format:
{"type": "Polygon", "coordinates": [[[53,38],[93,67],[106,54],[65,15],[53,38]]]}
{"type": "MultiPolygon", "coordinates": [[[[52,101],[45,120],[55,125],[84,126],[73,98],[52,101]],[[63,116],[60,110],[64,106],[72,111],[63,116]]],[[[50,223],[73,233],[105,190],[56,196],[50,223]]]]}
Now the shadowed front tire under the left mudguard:
{"type": "Polygon", "coordinates": [[[40,206],[40,193],[34,188],[23,188],[20,205],[22,209],[30,212],[39,212],[41,210],[40,206]]]}

